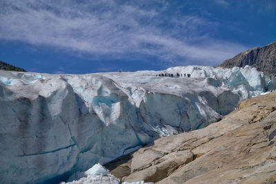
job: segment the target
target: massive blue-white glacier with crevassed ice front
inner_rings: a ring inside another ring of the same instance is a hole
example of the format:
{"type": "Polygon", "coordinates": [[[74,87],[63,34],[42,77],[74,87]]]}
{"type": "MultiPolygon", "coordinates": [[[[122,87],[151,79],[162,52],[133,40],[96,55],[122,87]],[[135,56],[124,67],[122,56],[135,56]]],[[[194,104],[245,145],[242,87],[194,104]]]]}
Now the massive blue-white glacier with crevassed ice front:
{"type": "Polygon", "coordinates": [[[274,77],[250,66],[0,71],[0,183],[59,183],[161,136],[206,127],[275,88],[274,77]]]}

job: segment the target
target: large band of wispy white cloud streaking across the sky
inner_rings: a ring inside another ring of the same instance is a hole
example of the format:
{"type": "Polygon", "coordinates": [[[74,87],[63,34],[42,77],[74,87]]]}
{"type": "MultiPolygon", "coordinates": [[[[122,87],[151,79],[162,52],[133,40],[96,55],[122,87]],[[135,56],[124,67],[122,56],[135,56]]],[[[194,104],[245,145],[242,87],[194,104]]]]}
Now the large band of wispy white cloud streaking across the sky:
{"type": "Polygon", "coordinates": [[[0,6],[0,39],[50,45],[99,59],[146,55],[179,65],[185,64],[182,61],[215,65],[245,49],[214,39],[218,23],[196,15],[170,15],[167,1],[4,0],[0,6]]]}

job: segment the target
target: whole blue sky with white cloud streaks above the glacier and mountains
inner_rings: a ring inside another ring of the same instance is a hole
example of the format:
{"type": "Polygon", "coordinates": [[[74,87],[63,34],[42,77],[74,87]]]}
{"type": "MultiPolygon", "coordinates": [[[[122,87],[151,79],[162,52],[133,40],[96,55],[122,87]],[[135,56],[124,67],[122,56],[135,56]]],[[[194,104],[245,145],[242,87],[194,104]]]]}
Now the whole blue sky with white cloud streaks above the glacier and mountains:
{"type": "Polygon", "coordinates": [[[275,0],[0,0],[0,60],[86,74],[215,66],[276,41],[275,0]]]}

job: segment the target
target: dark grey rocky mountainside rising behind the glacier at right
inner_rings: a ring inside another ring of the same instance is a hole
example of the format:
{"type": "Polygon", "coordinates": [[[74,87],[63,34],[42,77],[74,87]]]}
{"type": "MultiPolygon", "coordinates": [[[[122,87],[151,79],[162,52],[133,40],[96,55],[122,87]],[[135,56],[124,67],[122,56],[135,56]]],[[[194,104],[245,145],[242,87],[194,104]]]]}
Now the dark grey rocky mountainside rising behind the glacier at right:
{"type": "Polygon", "coordinates": [[[224,61],[220,67],[233,68],[235,66],[243,68],[251,65],[258,71],[264,72],[266,75],[276,75],[276,41],[270,43],[263,48],[253,48],[242,52],[233,59],[224,61]]]}

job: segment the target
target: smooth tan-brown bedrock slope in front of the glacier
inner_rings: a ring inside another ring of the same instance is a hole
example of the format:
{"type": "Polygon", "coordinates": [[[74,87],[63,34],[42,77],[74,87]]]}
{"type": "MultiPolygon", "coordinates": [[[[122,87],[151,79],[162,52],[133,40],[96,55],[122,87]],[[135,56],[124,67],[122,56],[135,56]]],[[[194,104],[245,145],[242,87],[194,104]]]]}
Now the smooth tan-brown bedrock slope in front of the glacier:
{"type": "Polygon", "coordinates": [[[201,130],[167,136],[106,167],[123,181],[275,183],[276,92],[201,130]]]}

